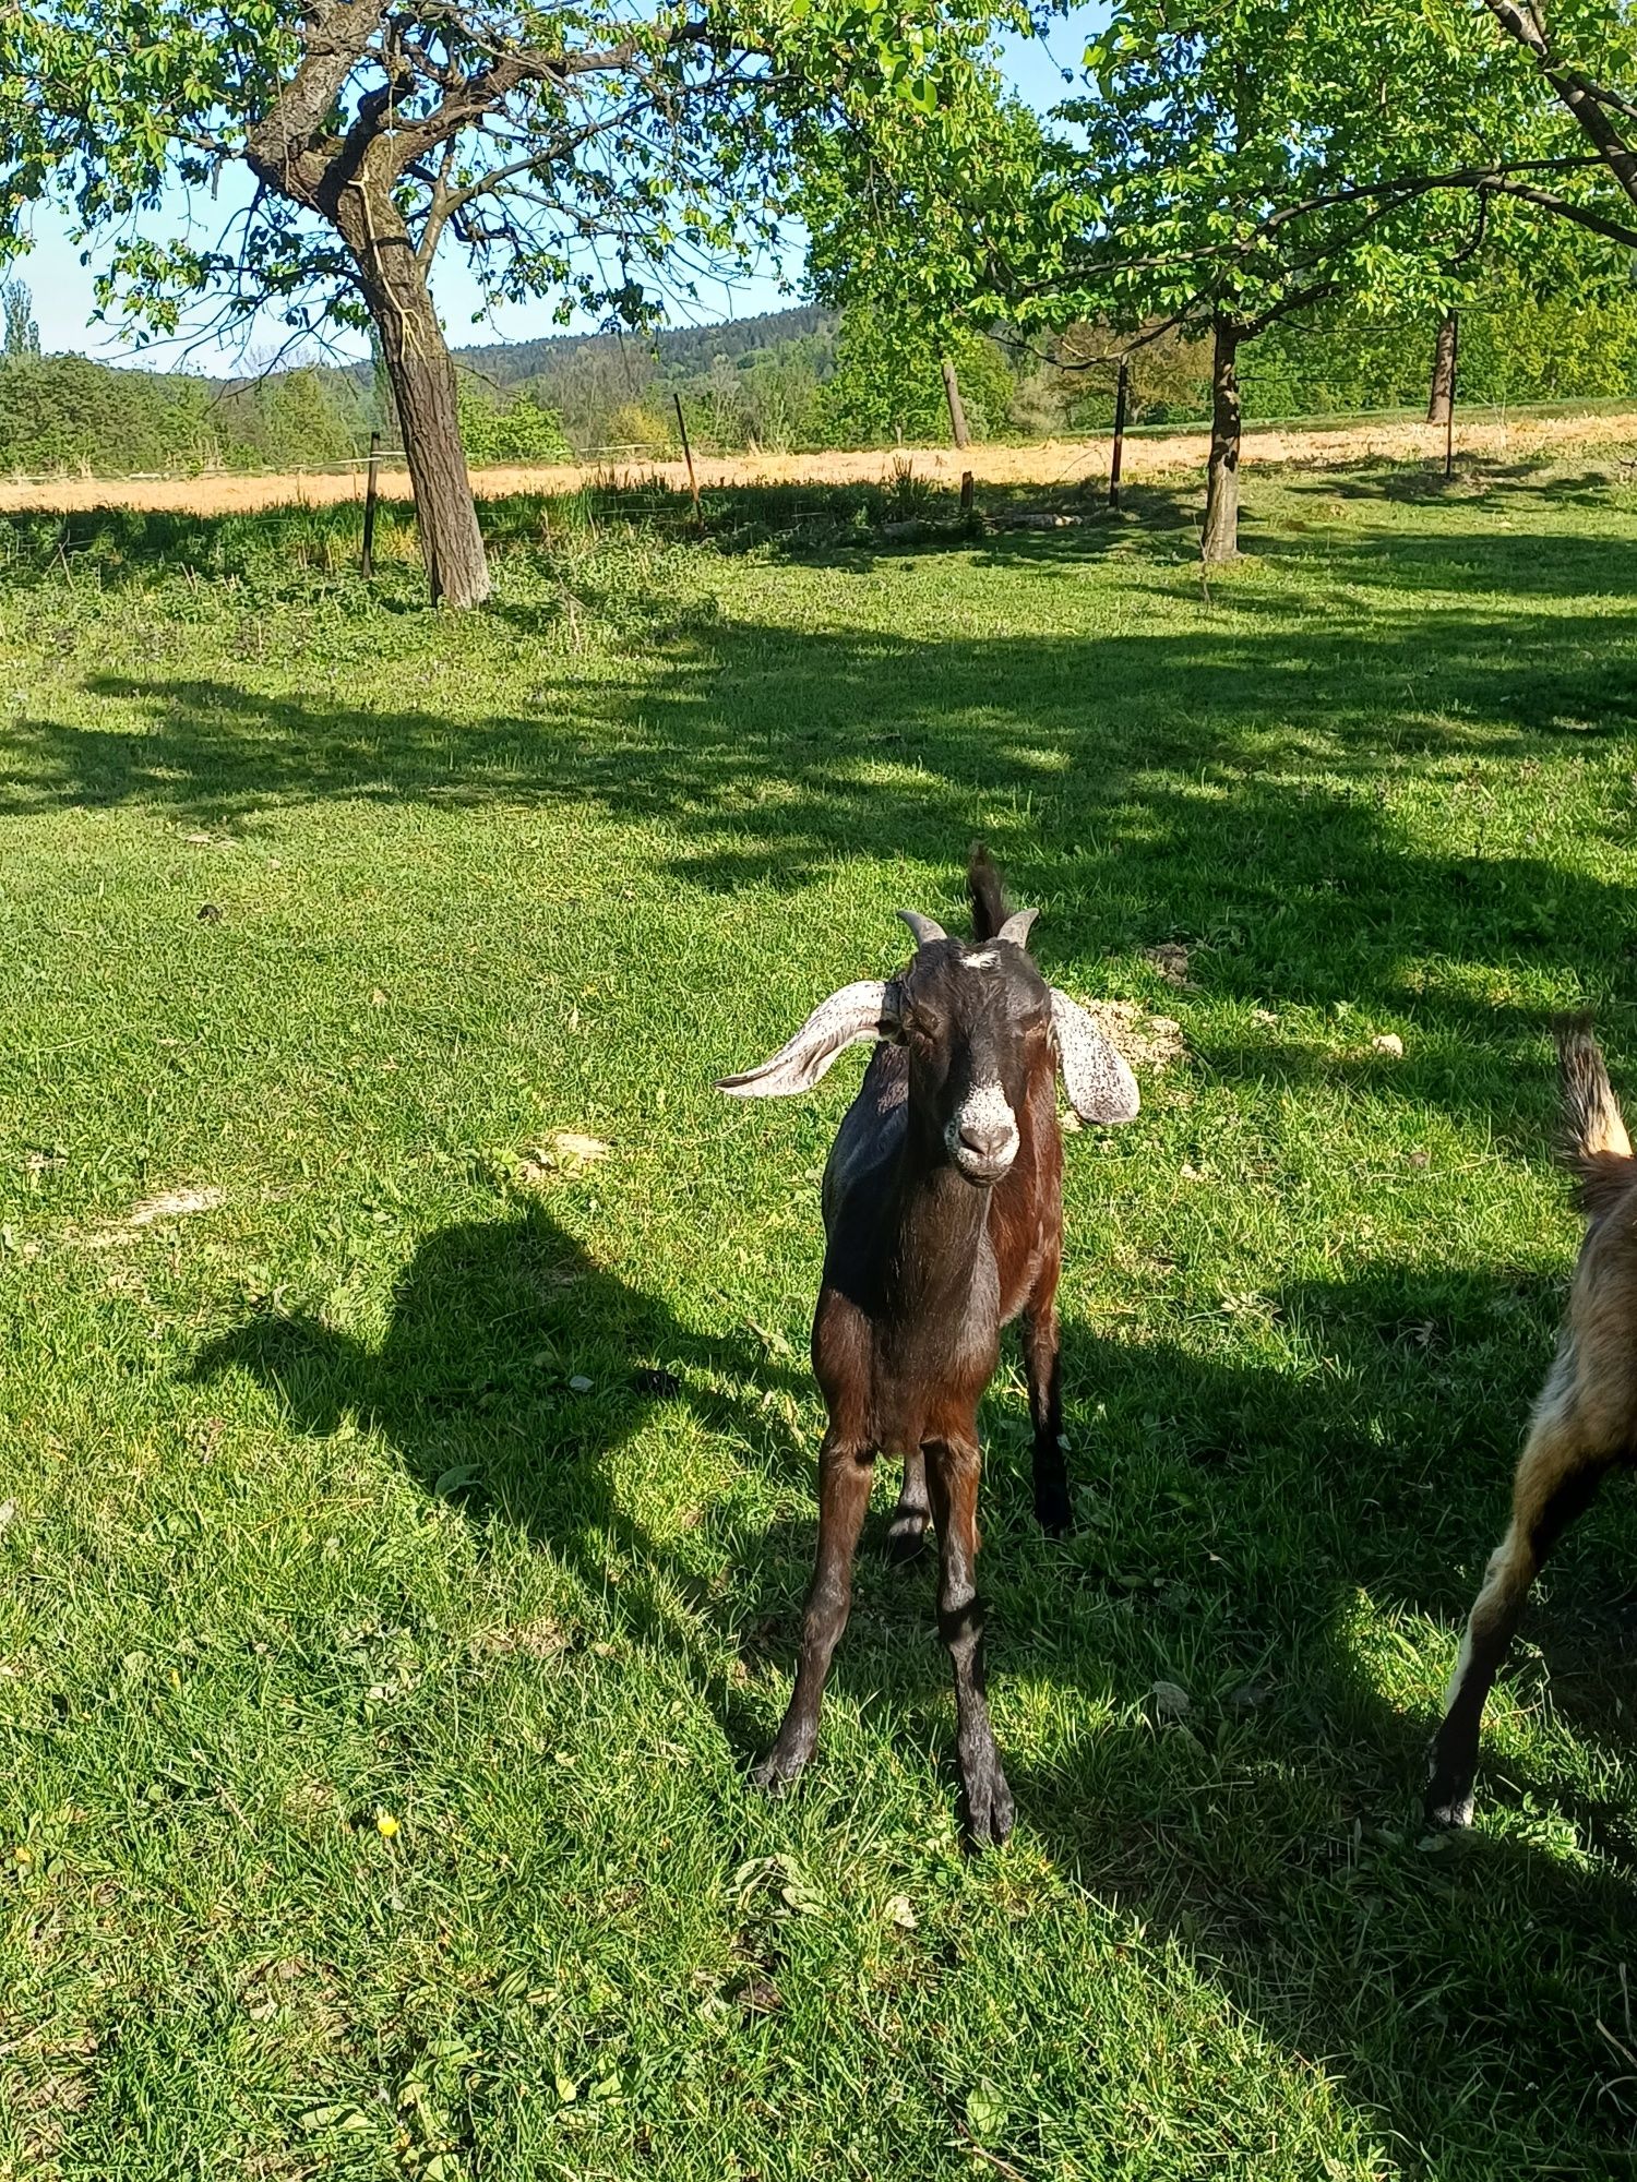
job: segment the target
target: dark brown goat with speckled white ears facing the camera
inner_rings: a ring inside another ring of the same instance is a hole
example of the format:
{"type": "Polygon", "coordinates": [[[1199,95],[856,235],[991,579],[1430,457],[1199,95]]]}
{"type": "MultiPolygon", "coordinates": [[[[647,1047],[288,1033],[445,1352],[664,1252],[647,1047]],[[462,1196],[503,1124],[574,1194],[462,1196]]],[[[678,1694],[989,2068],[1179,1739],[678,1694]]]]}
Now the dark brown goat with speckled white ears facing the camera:
{"type": "Polygon", "coordinates": [[[978,1401],[1000,1329],[1024,1314],[1035,1427],[1035,1512],[1067,1530],[1056,1283],[1063,1266],[1061,1069],[1087,1122],[1128,1122],[1137,1082],[1091,1017],[1028,956],[1035,910],[1006,910],[982,847],[967,871],[973,943],[899,910],[915,956],[886,982],[832,993],[770,1060],[718,1089],[810,1091],[847,1045],[880,1041],[823,1178],[827,1233],[812,1366],[829,1429],[818,1453],[818,1556],[801,1658],[779,1737],[753,1778],[773,1794],[818,1741],[829,1661],[847,1626],[851,1569],[875,1455],[901,1455],[893,1558],[928,1514],[941,1545],[939,1630],[954,1663],[967,1831],[1004,1842],[1013,1798],[984,1695],[978,1558],[978,1401]]]}

